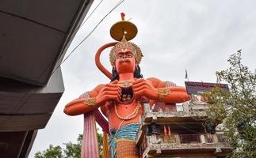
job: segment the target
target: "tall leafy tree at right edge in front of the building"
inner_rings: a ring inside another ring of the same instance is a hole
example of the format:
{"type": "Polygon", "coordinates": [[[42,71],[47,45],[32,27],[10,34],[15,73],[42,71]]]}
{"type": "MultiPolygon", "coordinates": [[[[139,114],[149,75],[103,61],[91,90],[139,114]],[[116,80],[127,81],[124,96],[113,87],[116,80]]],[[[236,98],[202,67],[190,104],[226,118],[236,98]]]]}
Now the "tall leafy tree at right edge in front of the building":
{"type": "Polygon", "coordinates": [[[229,92],[214,88],[208,97],[208,122],[223,122],[224,134],[234,149],[231,158],[256,157],[256,74],[241,62],[241,50],[228,58],[230,67],[217,72],[229,92]]]}

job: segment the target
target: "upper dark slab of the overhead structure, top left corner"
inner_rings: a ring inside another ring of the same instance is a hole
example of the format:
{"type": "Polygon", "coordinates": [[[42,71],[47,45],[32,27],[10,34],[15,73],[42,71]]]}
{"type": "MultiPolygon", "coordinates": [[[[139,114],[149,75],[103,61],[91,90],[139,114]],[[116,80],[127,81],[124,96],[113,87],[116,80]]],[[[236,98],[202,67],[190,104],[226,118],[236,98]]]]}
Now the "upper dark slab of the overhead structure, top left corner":
{"type": "Polygon", "coordinates": [[[0,77],[46,85],[92,0],[2,0],[0,77]]]}

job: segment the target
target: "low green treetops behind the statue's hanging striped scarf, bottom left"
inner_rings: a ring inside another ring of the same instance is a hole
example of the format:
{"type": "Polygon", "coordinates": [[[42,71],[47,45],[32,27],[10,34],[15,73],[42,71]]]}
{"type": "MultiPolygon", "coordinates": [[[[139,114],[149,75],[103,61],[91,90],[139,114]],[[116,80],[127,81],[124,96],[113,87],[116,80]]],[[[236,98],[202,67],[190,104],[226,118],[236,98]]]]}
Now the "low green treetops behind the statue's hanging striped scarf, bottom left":
{"type": "MultiPolygon", "coordinates": [[[[99,145],[100,157],[102,158],[103,136],[98,132],[97,141],[99,145]]],[[[82,134],[78,135],[76,143],[72,143],[71,141],[69,141],[67,143],[64,143],[63,145],[65,145],[64,148],[61,148],[59,145],[49,145],[49,148],[44,150],[43,152],[36,152],[35,158],[80,158],[82,148],[82,134]]]]}

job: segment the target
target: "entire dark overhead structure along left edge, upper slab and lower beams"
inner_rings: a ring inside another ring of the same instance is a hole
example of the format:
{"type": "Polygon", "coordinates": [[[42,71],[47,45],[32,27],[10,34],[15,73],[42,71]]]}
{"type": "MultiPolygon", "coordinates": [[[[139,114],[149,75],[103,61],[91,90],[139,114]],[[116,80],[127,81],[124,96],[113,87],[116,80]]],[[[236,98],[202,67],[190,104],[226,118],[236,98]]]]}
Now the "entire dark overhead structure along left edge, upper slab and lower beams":
{"type": "Polygon", "coordinates": [[[64,92],[58,69],[93,0],[0,2],[0,153],[28,157],[64,92]],[[52,76],[51,76],[52,74],[52,76]]]}

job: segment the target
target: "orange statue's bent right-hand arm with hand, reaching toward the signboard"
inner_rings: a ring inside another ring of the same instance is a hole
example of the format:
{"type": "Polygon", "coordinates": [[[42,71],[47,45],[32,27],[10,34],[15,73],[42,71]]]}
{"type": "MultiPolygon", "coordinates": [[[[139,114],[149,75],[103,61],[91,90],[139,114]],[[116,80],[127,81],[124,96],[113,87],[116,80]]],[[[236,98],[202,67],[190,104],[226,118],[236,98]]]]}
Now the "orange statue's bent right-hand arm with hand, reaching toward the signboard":
{"type": "Polygon", "coordinates": [[[189,100],[189,95],[184,87],[166,87],[165,81],[157,78],[137,79],[132,85],[136,96],[146,96],[150,100],[165,103],[182,103],[189,100]]]}

